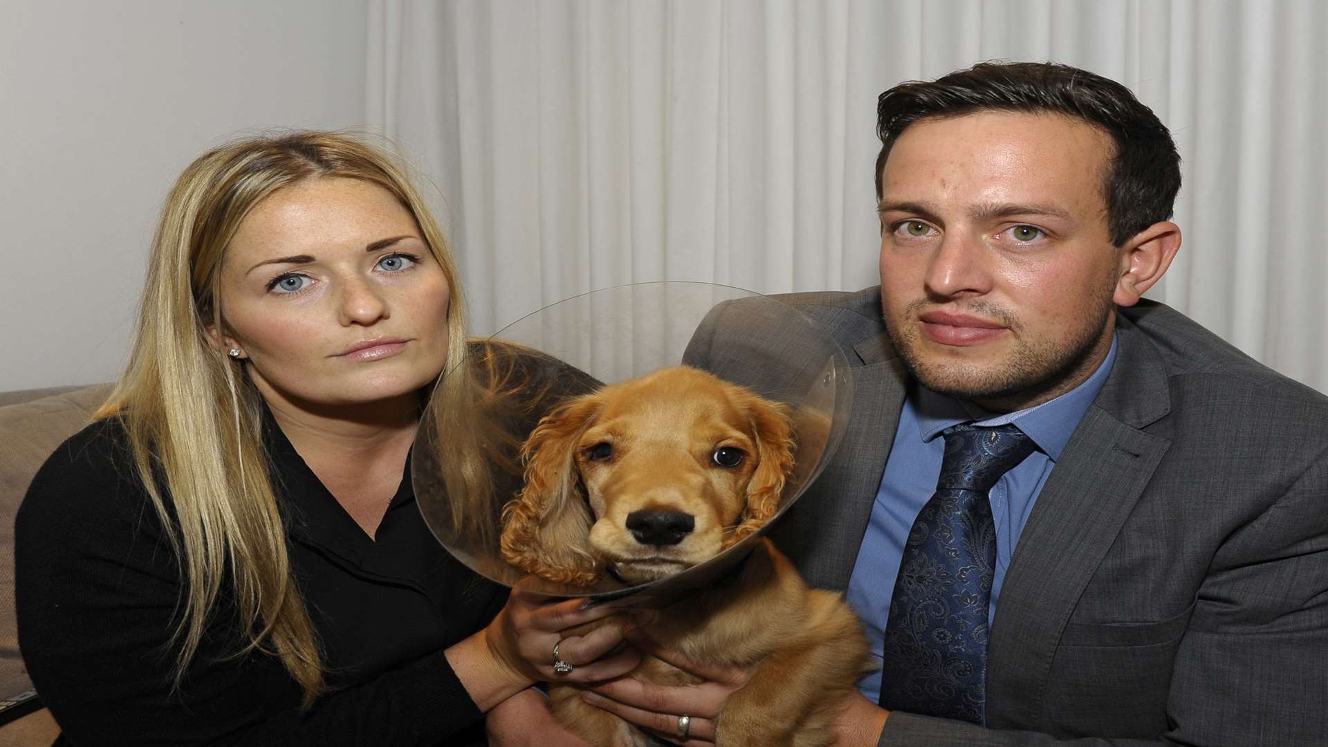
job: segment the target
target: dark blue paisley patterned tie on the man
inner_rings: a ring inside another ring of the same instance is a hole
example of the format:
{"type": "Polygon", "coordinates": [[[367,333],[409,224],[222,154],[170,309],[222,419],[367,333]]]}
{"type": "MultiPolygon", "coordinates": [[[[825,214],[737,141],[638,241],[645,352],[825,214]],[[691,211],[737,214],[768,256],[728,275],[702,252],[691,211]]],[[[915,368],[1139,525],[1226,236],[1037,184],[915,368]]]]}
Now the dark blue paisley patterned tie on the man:
{"type": "Polygon", "coordinates": [[[955,425],[890,598],[880,706],[983,723],[996,525],[987,492],[1033,452],[1015,425],[955,425]]]}

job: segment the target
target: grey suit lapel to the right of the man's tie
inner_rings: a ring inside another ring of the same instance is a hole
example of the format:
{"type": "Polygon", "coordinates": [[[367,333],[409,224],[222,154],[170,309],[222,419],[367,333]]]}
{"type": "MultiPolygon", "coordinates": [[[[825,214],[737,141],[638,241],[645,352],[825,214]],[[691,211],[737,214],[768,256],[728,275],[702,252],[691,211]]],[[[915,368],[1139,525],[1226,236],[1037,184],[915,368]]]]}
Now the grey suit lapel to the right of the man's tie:
{"type": "Polygon", "coordinates": [[[988,649],[992,727],[1041,723],[1061,631],[1170,447],[1141,429],[1169,412],[1165,363],[1127,322],[1117,332],[1112,374],[1048,477],[1011,558],[988,649]]]}

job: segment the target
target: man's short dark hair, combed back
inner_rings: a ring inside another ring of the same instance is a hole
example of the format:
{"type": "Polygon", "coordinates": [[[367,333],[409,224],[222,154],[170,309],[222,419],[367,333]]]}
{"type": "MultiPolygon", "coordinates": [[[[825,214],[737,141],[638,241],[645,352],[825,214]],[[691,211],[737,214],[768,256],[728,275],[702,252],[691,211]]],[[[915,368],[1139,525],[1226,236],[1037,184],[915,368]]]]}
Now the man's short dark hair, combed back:
{"type": "Polygon", "coordinates": [[[1058,62],[980,62],[882,93],[876,101],[876,199],[890,149],[910,125],[991,109],[1064,114],[1112,136],[1116,154],[1102,175],[1102,194],[1116,246],[1171,218],[1181,190],[1181,154],[1166,125],[1123,85],[1058,62]]]}

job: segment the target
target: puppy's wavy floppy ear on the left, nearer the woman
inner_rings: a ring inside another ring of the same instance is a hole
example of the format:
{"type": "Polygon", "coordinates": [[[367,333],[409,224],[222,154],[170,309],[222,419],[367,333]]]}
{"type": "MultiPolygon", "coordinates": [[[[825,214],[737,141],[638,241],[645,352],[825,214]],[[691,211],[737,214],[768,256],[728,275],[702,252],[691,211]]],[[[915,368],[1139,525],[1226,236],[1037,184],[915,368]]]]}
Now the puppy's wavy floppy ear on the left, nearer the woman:
{"type": "Polygon", "coordinates": [[[575,464],[576,444],[599,408],[587,395],[539,421],[521,448],[526,486],[502,509],[503,560],[559,584],[590,586],[599,578],[575,464]]]}

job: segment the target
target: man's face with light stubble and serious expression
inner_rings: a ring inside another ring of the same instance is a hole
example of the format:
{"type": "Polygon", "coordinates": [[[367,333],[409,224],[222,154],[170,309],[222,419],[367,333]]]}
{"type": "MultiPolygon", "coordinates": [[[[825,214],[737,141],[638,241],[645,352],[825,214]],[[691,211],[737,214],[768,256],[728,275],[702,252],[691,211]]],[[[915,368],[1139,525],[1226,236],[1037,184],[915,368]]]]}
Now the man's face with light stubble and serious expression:
{"type": "Polygon", "coordinates": [[[1102,362],[1127,259],[1106,227],[1112,140],[1054,114],[918,122],[882,169],[880,306],[928,388],[1013,411],[1102,362]]]}

